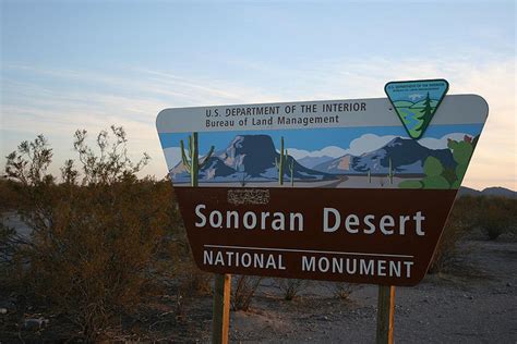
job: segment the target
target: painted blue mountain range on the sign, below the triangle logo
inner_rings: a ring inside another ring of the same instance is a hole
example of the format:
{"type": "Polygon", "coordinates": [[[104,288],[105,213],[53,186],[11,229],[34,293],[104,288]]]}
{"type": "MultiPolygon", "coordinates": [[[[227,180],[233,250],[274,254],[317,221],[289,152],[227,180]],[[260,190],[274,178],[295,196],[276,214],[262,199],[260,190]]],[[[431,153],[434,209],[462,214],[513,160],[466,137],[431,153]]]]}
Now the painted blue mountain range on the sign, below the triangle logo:
{"type": "Polygon", "coordinates": [[[385,146],[359,157],[346,155],[315,165],[316,171],[332,174],[387,174],[389,160],[395,173],[423,174],[423,161],[428,157],[438,159],[444,168],[456,165],[449,149],[430,149],[410,138],[394,138],[385,146]]]}

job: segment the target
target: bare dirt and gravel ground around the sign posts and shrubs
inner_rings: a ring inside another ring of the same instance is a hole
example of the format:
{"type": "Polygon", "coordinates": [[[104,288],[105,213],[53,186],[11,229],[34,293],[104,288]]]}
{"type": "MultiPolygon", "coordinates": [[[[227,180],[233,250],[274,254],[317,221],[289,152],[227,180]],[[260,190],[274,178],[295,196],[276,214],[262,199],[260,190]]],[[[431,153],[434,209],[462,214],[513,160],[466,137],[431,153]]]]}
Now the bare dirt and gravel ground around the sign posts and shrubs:
{"type": "MultiPolygon", "coordinates": [[[[428,275],[416,287],[396,288],[395,342],[517,342],[517,241],[468,241],[460,257],[446,273],[428,275]]],[[[332,284],[309,281],[300,296],[288,302],[276,281],[264,279],[251,309],[230,314],[230,341],[373,343],[376,293],[375,285],[360,285],[349,299],[340,299],[333,295],[332,284]]],[[[16,303],[9,297],[0,293],[0,307],[16,303]]],[[[11,310],[0,315],[0,343],[77,339],[65,319],[39,311],[29,307],[22,318],[11,310]],[[37,317],[48,319],[48,324],[24,329],[21,319],[37,317]]],[[[121,328],[109,337],[207,343],[211,321],[209,295],[179,299],[170,290],[137,317],[121,319],[121,328]]]]}

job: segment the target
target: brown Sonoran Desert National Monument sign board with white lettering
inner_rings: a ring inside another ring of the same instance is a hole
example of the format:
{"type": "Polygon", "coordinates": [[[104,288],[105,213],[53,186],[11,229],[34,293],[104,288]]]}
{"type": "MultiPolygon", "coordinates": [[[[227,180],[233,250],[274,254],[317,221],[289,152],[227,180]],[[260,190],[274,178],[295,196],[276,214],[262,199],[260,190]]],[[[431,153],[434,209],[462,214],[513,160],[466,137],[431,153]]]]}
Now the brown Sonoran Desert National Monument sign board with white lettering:
{"type": "Polygon", "coordinates": [[[445,97],[426,130],[408,131],[419,139],[397,111],[386,98],[163,110],[157,130],[200,269],[422,280],[488,105],[445,97]]]}

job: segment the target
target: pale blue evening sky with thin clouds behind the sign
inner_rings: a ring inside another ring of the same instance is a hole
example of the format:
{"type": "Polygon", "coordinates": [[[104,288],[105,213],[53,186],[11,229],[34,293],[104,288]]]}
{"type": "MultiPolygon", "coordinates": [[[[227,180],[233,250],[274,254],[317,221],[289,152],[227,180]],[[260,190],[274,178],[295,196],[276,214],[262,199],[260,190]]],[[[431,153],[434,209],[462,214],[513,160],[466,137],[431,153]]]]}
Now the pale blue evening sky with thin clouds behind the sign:
{"type": "Polygon", "coordinates": [[[1,170],[41,133],[57,173],[75,130],[94,139],[116,124],[161,177],[165,108],[385,97],[390,81],[445,78],[490,107],[464,185],[517,189],[514,1],[0,3],[1,170]]]}

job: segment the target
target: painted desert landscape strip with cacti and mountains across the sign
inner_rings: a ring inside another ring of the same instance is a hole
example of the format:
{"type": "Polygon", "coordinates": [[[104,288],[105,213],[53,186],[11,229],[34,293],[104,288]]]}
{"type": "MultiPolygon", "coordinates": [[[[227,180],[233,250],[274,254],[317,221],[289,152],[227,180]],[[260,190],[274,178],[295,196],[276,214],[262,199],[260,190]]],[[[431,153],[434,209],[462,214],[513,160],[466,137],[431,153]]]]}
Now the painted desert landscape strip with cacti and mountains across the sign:
{"type": "Polygon", "coordinates": [[[400,127],[160,134],[160,139],[175,186],[458,188],[481,128],[435,125],[419,140],[400,127]]]}

